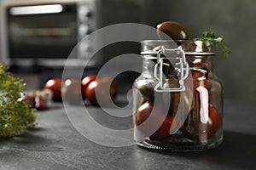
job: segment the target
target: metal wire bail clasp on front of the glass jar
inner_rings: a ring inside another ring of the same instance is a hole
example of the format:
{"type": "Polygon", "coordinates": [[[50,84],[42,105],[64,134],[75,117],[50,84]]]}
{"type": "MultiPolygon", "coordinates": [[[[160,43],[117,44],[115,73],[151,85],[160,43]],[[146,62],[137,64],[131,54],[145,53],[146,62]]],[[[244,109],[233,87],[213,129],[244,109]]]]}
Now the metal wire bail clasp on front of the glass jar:
{"type": "Polygon", "coordinates": [[[165,48],[162,46],[156,52],[157,63],[154,66],[154,77],[158,80],[157,85],[154,87],[156,92],[183,92],[185,90],[184,80],[189,76],[189,64],[185,58],[185,53],[181,47],[178,48],[165,48]],[[165,57],[161,57],[165,56],[165,57]],[[168,62],[165,60],[168,59],[168,62]],[[173,66],[177,72],[179,87],[178,88],[164,88],[164,75],[163,67],[173,66]]]}

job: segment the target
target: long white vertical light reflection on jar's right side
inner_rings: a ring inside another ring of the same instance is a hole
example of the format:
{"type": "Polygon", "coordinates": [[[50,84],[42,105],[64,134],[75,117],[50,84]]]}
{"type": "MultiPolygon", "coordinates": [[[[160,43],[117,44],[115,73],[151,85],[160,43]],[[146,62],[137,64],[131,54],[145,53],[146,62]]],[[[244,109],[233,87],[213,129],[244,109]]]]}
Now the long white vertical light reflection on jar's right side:
{"type": "Polygon", "coordinates": [[[201,108],[200,108],[200,121],[202,123],[207,124],[209,120],[209,111],[208,111],[208,99],[209,94],[207,88],[204,88],[202,86],[199,86],[196,88],[196,90],[200,94],[200,100],[201,100],[201,108]]]}

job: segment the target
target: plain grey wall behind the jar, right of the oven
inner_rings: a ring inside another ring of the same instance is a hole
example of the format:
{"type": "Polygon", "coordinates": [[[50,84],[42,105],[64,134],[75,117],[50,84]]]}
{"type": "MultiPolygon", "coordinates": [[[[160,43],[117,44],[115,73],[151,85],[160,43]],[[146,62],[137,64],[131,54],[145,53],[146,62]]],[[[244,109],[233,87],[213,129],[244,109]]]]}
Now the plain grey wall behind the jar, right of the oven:
{"type": "Polygon", "coordinates": [[[202,31],[224,36],[232,54],[226,61],[219,54],[215,70],[224,82],[225,97],[256,99],[256,1],[150,0],[147,5],[145,23],[151,26],[174,20],[186,26],[191,37],[201,36],[202,31]]]}

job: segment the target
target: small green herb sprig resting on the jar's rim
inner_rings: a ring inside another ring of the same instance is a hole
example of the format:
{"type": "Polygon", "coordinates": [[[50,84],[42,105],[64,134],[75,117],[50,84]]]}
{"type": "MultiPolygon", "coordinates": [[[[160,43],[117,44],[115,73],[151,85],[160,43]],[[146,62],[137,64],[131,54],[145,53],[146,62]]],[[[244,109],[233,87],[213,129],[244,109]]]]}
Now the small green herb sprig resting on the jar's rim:
{"type": "Polygon", "coordinates": [[[231,53],[230,48],[228,48],[227,44],[224,42],[224,37],[216,37],[215,33],[212,31],[204,31],[202,33],[201,37],[195,38],[195,40],[201,40],[201,41],[213,41],[218,44],[218,47],[222,50],[223,52],[223,59],[226,60],[228,59],[228,54],[231,53]]]}

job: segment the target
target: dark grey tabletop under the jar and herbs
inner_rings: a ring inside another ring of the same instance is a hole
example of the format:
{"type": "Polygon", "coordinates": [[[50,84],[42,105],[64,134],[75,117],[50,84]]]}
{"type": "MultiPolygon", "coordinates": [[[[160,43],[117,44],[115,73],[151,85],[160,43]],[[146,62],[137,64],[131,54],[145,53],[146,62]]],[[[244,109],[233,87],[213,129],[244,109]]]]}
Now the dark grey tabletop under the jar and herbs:
{"type": "MultiPolygon", "coordinates": [[[[70,106],[79,111],[81,106],[70,106]]],[[[88,107],[96,119],[102,110],[88,107]]],[[[224,143],[192,153],[161,153],[137,145],[107,147],[76,131],[63,105],[39,111],[38,126],[12,139],[0,140],[0,170],[13,169],[256,169],[256,101],[226,99],[224,143]]],[[[108,124],[108,123],[107,123],[108,124]]],[[[116,123],[122,126],[124,123],[116,123]]]]}

